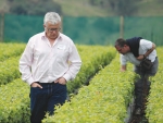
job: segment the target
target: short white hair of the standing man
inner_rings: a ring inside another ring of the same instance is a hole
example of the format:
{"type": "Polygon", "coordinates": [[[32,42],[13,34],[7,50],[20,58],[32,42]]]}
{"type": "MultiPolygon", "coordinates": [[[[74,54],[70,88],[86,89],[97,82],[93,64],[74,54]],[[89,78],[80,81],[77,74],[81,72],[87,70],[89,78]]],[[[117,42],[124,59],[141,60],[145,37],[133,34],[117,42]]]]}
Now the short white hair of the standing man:
{"type": "Polygon", "coordinates": [[[51,24],[58,24],[61,22],[61,16],[55,12],[48,12],[45,15],[43,24],[50,22],[51,24]]]}

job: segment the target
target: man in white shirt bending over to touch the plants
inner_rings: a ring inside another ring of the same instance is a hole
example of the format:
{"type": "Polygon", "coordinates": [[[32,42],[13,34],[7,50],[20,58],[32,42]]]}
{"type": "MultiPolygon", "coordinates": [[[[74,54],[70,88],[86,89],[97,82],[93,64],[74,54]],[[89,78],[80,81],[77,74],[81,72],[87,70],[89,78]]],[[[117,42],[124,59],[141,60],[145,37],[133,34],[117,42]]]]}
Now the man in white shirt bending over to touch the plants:
{"type": "MultiPolygon", "coordinates": [[[[121,53],[121,71],[124,72],[127,69],[127,62],[130,62],[135,66],[135,72],[140,75],[141,79],[135,83],[136,95],[136,114],[141,114],[143,108],[143,83],[145,76],[154,76],[158,72],[158,57],[155,45],[141,37],[134,37],[130,39],[120,38],[115,41],[115,49],[121,53]],[[147,58],[152,62],[150,70],[146,70],[140,63],[147,58]]],[[[148,90],[150,89],[150,82],[148,81],[148,90]]]]}

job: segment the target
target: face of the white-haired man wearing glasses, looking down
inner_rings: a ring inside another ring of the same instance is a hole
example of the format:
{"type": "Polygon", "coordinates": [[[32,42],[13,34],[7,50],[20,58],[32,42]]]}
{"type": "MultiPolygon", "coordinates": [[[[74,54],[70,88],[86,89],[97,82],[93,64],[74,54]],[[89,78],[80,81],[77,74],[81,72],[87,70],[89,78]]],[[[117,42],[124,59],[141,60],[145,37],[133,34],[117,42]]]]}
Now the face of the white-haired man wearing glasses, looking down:
{"type": "Polygon", "coordinates": [[[61,23],[51,24],[48,22],[43,26],[45,26],[46,35],[49,39],[57,39],[58,38],[60,29],[61,29],[61,23]]]}

